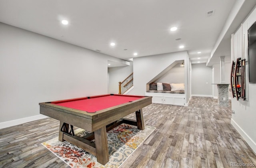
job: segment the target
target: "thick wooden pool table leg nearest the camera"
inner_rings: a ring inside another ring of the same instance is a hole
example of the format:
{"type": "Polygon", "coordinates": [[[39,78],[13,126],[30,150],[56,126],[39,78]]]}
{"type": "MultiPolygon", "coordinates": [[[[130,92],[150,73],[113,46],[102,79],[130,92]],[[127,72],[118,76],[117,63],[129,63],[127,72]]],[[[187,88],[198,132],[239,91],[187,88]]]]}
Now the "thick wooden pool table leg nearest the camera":
{"type": "Polygon", "coordinates": [[[105,165],[109,161],[106,126],[94,131],[97,162],[105,165]]]}

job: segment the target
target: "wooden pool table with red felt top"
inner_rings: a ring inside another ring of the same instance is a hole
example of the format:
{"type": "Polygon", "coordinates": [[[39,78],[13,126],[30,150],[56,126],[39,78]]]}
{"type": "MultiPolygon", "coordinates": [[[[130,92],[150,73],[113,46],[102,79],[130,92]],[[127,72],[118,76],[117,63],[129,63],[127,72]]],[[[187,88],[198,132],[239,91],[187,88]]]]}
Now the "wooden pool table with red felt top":
{"type": "Polygon", "coordinates": [[[106,132],[127,123],[144,130],[142,108],[152,103],[152,97],[135,95],[97,95],[39,103],[40,114],[60,121],[59,140],[68,141],[94,154],[97,161],[109,161],[106,132]],[[136,121],[123,119],[136,112],[136,121]],[[79,137],[74,134],[73,126],[92,133],[79,137]],[[92,140],[95,139],[95,143],[92,140]]]}

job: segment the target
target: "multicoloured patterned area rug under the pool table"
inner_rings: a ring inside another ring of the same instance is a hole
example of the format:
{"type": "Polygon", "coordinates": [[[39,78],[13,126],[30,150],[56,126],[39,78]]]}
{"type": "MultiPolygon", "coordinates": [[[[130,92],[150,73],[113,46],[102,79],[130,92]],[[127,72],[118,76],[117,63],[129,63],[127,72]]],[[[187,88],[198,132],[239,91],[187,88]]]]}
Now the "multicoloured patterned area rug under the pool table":
{"type": "MultiPolygon", "coordinates": [[[[42,145],[72,168],[118,168],[154,130],[150,126],[138,130],[137,126],[122,124],[108,131],[109,162],[106,165],[98,163],[96,156],[71,143],[60,142],[58,137],[42,145]]],[[[75,134],[81,137],[88,133],[81,128],[75,130],[75,134]]]]}

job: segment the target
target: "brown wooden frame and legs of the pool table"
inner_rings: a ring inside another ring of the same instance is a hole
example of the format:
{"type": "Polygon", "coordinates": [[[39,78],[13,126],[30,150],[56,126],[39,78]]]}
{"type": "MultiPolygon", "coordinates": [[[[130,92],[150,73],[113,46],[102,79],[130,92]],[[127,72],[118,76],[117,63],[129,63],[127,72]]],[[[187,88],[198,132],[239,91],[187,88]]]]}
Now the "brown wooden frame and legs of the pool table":
{"type": "Polygon", "coordinates": [[[103,109],[96,113],[86,113],[85,111],[62,107],[49,102],[39,103],[39,105],[40,114],[60,121],[60,141],[66,140],[90,152],[97,157],[99,163],[105,165],[109,161],[106,132],[122,123],[136,125],[138,129],[144,130],[142,108],[151,103],[152,97],[142,97],[141,99],[103,109]],[[136,112],[136,121],[122,119],[122,117],[134,112],[136,112]],[[70,128],[69,125],[77,126],[92,133],[84,137],[70,135],[68,130],[61,130],[62,125],[65,125],[67,129],[70,128]],[[95,143],[91,142],[93,139],[95,139],[95,143]]]}

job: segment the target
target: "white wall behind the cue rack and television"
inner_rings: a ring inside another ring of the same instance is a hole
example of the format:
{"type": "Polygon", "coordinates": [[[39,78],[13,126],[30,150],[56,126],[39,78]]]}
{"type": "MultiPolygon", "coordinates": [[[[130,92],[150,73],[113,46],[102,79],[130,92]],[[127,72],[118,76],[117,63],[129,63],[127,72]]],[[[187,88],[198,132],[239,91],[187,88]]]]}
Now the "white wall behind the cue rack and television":
{"type": "MultiPolygon", "coordinates": [[[[248,16],[248,18],[243,23],[243,31],[241,28],[238,29],[234,34],[234,47],[235,55],[234,59],[241,57],[242,51],[242,34],[245,34],[245,50],[244,55],[246,59],[246,101],[236,98],[232,98],[232,110],[235,114],[232,114],[231,123],[238,130],[238,132],[243,136],[246,142],[251,146],[251,148],[256,153],[256,84],[249,83],[248,80],[248,36],[247,31],[252,24],[256,22],[256,9],[248,16]]],[[[233,60],[233,56],[231,56],[233,60]]],[[[255,73],[255,72],[253,72],[255,73]]]]}

